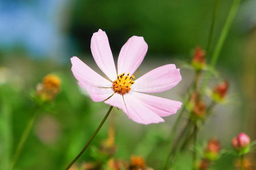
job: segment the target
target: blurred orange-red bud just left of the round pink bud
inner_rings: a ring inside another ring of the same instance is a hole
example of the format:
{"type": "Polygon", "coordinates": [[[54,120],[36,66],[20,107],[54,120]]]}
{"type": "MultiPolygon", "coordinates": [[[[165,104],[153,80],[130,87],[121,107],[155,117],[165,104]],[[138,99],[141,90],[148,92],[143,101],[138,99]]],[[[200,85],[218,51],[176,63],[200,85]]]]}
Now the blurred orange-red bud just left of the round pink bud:
{"type": "Polygon", "coordinates": [[[217,139],[210,139],[205,150],[205,158],[207,158],[210,161],[216,160],[218,158],[220,150],[220,141],[218,141],[217,139]]]}

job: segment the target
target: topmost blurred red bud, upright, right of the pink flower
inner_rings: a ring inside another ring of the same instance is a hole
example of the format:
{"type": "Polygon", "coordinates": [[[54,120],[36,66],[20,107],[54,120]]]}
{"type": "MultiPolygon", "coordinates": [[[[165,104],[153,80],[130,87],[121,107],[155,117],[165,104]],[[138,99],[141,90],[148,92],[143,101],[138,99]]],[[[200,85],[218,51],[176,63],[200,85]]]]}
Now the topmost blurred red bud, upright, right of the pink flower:
{"type": "Polygon", "coordinates": [[[203,49],[200,48],[200,46],[197,46],[192,58],[192,66],[196,70],[201,70],[203,69],[204,65],[205,65],[205,52],[203,49]]]}

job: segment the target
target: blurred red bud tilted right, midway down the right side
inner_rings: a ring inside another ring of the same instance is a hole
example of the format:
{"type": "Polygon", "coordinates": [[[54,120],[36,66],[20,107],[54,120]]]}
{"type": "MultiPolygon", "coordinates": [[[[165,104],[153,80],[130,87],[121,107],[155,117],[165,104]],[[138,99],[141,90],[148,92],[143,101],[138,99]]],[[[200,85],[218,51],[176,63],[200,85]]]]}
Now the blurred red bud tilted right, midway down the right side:
{"type": "Polygon", "coordinates": [[[222,101],[224,100],[226,93],[228,91],[229,83],[228,81],[222,82],[218,84],[213,89],[213,100],[214,101],[222,101]]]}

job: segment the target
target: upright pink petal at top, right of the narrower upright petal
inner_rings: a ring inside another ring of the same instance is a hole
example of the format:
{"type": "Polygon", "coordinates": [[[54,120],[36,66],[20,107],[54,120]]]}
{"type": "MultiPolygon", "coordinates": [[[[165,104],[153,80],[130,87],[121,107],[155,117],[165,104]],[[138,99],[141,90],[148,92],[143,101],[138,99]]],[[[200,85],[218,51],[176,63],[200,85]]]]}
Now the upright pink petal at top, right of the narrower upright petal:
{"type": "Polygon", "coordinates": [[[118,74],[133,74],[141,65],[147,53],[147,43],[143,37],[132,36],[123,45],[118,57],[118,74]]]}

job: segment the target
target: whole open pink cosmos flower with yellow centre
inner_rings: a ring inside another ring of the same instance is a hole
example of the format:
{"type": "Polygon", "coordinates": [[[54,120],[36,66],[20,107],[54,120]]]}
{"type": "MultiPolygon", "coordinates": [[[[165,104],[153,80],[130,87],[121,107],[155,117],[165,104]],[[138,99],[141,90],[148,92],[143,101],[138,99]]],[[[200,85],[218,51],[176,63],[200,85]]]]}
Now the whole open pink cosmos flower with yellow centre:
{"type": "Polygon", "coordinates": [[[181,80],[180,70],[173,64],[149,71],[133,80],[133,73],[141,65],[147,52],[143,37],[133,36],[123,45],[118,57],[118,71],[109,40],[101,29],[93,33],[90,48],[103,78],[77,57],[72,57],[72,72],[80,87],[84,88],[93,101],[120,108],[139,124],[164,122],[162,117],[174,114],[181,107],[180,101],[164,99],[143,93],[158,93],[170,90],[181,80]],[[118,73],[118,74],[117,74],[118,73]]]}

